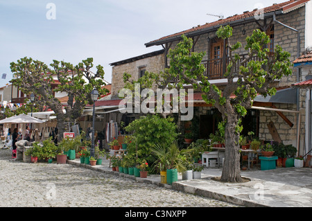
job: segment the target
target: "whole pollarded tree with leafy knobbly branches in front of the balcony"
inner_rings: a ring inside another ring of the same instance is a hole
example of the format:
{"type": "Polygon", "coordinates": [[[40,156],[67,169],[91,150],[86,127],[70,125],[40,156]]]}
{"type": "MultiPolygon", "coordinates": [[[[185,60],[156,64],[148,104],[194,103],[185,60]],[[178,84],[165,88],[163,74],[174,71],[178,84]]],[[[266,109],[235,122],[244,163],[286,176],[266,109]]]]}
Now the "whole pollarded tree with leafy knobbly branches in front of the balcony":
{"type": "MultiPolygon", "coordinates": [[[[251,36],[246,37],[245,51],[248,55],[241,61],[235,51],[241,48],[241,42],[232,45],[229,38],[232,36],[232,27],[221,26],[216,35],[225,39],[229,51],[229,64],[224,78],[227,85],[222,89],[210,84],[205,76],[205,67],[202,58],[205,53],[191,52],[193,41],[182,35],[182,41],[174,49],[169,50],[168,59],[170,67],[164,73],[154,78],[157,82],[167,82],[175,79],[175,87],[182,88],[184,84],[193,85],[193,89],[202,92],[202,98],[206,103],[214,105],[222,114],[223,122],[218,126],[225,136],[225,164],[221,181],[242,182],[239,165],[239,137],[243,129],[241,121],[247,114],[247,109],[252,107],[252,100],[261,94],[272,96],[276,89],[273,85],[275,80],[283,76],[291,75],[290,53],[283,51],[280,46],[275,47],[272,57],[267,48],[270,41],[268,35],[256,29],[251,36]],[[258,59],[255,60],[254,58],[258,59]]],[[[155,76],[150,74],[149,76],[155,76]]],[[[169,85],[169,84],[168,84],[169,85]]],[[[162,87],[168,87],[162,85],[162,87]]],[[[169,86],[169,87],[172,87],[169,86]]]]}

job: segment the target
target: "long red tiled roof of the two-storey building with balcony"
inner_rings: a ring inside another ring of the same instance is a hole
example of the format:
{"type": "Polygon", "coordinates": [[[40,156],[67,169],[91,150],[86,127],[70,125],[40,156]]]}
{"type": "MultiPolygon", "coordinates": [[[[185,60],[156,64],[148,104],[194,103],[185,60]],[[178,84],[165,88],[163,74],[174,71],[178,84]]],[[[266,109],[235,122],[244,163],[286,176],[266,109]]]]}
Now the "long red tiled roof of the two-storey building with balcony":
{"type": "MultiPolygon", "coordinates": [[[[300,4],[305,3],[306,1],[309,1],[309,0],[297,0],[297,1],[291,0],[291,1],[286,1],[284,3],[273,4],[272,6],[268,6],[266,8],[261,9],[261,12],[266,14],[269,12],[277,12],[277,11],[284,11],[284,10],[290,11],[291,8],[297,7],[300,4]]],[[[193,27],[193,28],[188,29],[188,30],[183,30],[183,31],[181,31],[179,33],[175,33],[173,35],[161,37],[157,40],[146,43],[146,46],[157,45],[157,42],[162,41],[162,40],[166,40],[166,39],[170,39],[171,37],[180,37],[183,34],[187,35],[187,34],[191,34],[191,33],[194,33],[194,32],[200,31],[200,30],[205,30],[207,28],[214,28],[214,27],[218,27],[221,25],[227,25],[233,21],[239,21],[242,19],[254,17],[254,15],[258,15],[258,13],[259,13],[259,10],[254,9],[251,12],[247,11],[241,15],[234,15],[232,17],[227,17],[226,19],[219,19],[218,21],[207,23],[207,24],[204,24],[202,26],[196,26],[196,27],[193,27]]]]}

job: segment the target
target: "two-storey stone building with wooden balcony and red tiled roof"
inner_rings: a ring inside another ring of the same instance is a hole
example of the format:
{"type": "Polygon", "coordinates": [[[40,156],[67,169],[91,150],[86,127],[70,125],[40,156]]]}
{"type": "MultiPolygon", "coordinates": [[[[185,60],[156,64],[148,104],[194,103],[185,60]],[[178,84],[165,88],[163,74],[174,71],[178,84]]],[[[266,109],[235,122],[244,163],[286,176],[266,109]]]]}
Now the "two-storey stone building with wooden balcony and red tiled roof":
{"type": "MultiPolygon", "coordinates": [[[[216,30],[220,26],[232,26],[232,44],[241,42],[243,50],[245,37],[251,35],[256,28],[263,30],[270,37],[268,48],[274,52],[276,45],[291,53],[291,60],[299,58],[305,48],[312,46],[312,2],[309,0],[291,0],[284,3],[275,3],[262,9],[245,11],[241,15],[233,15],[211,23],[194,26],[179,33],[167,35],[145,44],[146,47],[162,46],[164,50],[155,51],[148,55],[141,55],[121,62],[112,63],[112,96],[118,94],[123,87],[124,72],[131,73],[138,78],[144,69],[146,71],[164,71],[168,67],[167,53],[180,42],[181,35],[193,39],[192,51],[205,52],[202,63],[207,69],[206,75],[212,84],[224,85],[223,78],[227,67],[227,47],[223,39],[216,37],[216,30]]],[[[241,58],[244,51],[237,51],[241,58]]],[[[248,110],[243,120],[243,134],[253,131],[259,139],[282,141],[284,144],[293,144],[300,149],[300,154],[306,151],[305,118],[306,118],[306,91],[291,87],[300,82],[305,76],[301,67],[293,67],[293,75],[284,77],[278,82],[277,94],[272,97],[261,96],[254,100],[254,109],[248,110]],[[258,108],[257,108],[258,107],[258,108]],[[281,109],[281,111],[276,111],[281,109]],[[270,128],[271,127],[271,128],[270,128]],[[272,127],[276,130],[272,132],[272,127]]],[[[198,118],[199,137],[207,138],[215,132],[220,114],[211,106],[198,101],[196,117],[198,118]]]]}

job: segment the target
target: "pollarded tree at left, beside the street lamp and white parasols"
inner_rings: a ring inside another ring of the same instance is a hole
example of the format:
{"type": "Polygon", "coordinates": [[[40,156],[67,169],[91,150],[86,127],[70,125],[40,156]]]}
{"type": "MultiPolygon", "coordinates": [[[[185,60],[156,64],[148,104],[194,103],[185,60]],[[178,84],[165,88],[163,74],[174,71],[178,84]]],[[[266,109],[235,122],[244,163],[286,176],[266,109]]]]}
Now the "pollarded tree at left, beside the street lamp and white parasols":
{"type": "MultiPolygon", "coordinates": [[[[46,107],[55,112],[58,120],[59,134],[67,130],[68,122],[73,122],[83,113],[87,103],[92,103],[90,93],[96,88],[100,95],[105,94],[107,89],[101,89],[104,71],[101,65],[96,67],[96,73],[92,73],[94,67],[93,58],[87,58],[76,66],[69,62],[53,60],[51,68],[44,62],[32,58],[21,58],[17,62],[10,63],[10,69],[15,76],[12,85],[19,87],[24,94],[35,94],[36,99],[43,101],[46,107]],[[55,83],[53,76],[56,76],[55,83]],[[56,87],[53,85],[57,85],[56,87]],[[54,93],[67,92],[68,101],[63,106],[54,93]]],[[[60,140],[62,136],[60,136],[60,140]]]]}

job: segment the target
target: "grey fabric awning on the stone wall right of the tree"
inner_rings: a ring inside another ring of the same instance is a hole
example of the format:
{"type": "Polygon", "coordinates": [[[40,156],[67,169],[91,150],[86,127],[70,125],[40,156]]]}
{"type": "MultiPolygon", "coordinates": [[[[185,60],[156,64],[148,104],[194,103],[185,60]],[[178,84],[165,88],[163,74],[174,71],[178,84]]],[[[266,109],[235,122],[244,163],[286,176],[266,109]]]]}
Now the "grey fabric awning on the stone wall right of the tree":
{"type": "Polygon", "coordinates": [[[254,101],[263,103],[297,104],[297,89],[281,89],[277,91],[274,96],[266,96],[266,98],[262,95],[259,95],[254,98],[254,101]]]}

